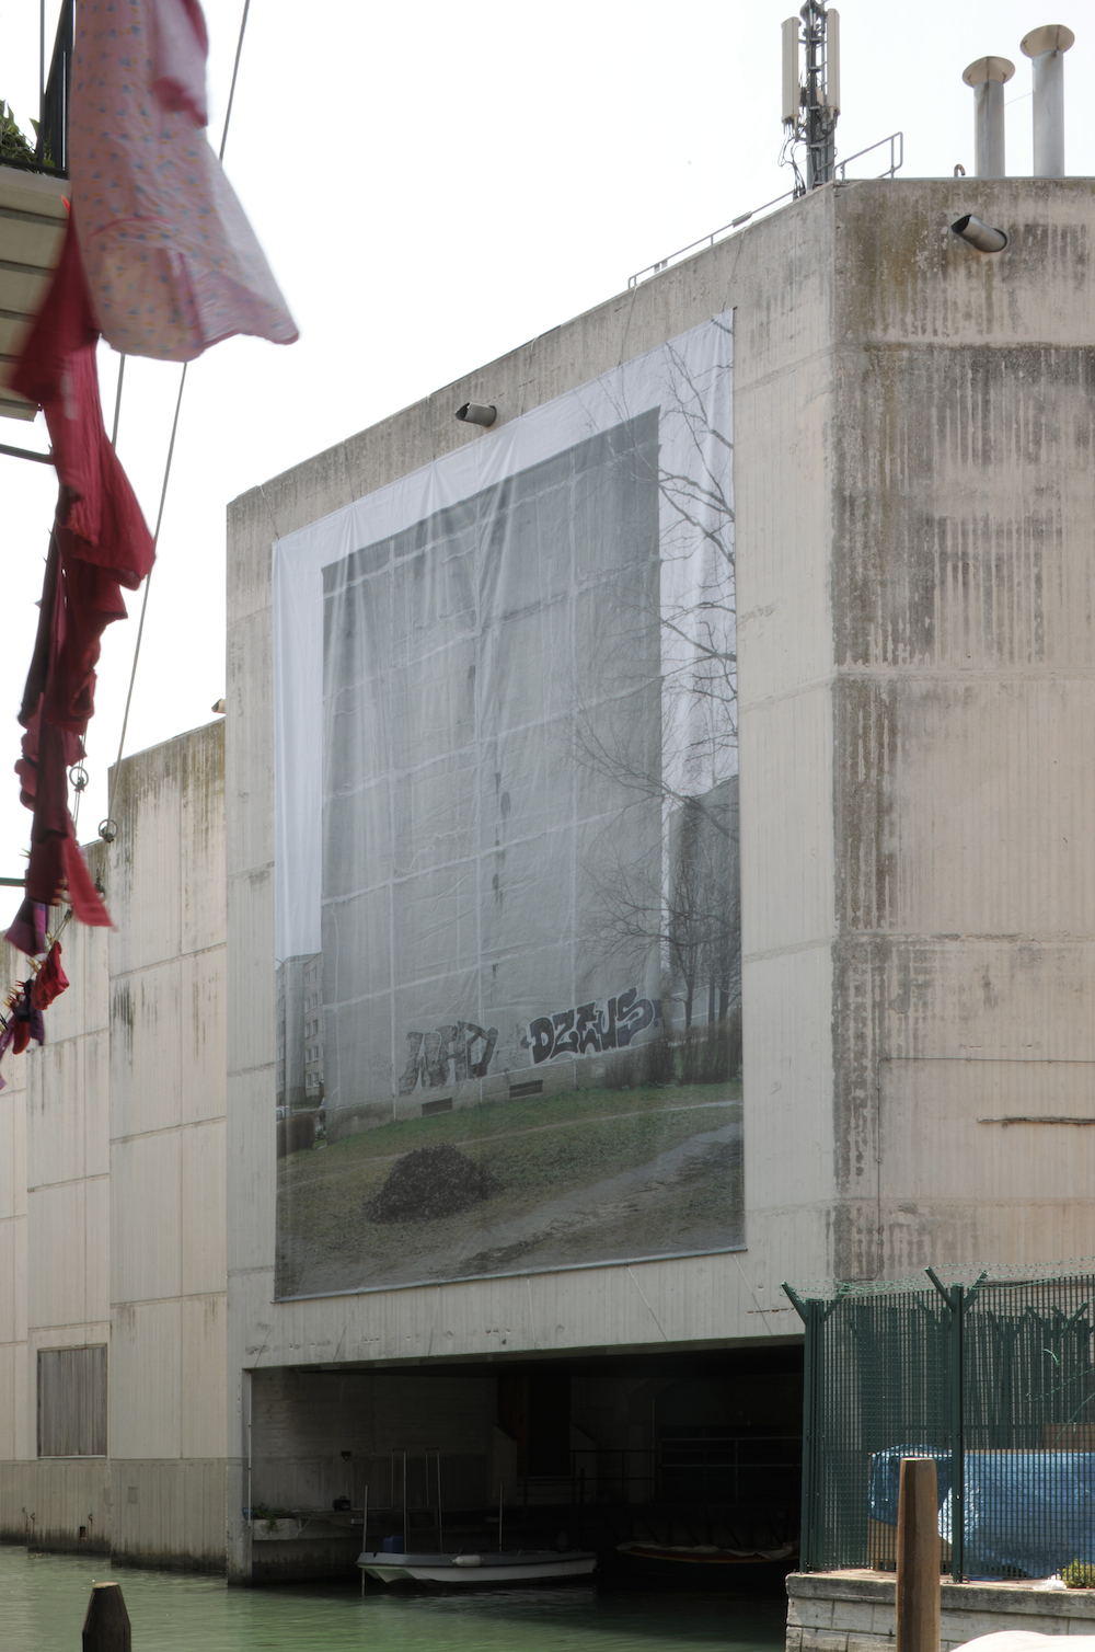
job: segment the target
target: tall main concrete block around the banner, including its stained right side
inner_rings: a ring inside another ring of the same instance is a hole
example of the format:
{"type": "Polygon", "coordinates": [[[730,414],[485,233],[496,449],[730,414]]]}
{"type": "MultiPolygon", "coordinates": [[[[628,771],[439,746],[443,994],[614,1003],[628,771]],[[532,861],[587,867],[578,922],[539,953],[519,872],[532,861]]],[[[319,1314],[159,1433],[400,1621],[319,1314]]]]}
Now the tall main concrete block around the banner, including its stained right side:
{"type": "Polygon", "coordinates": [[[793,1335],[785,1277],[1090,1249],[1083,1132],[978,1123],[1092,1110],[1090,215],[821,190],[231,507],[231,1436],[256,1366],[793,1335]],[[269,544],[728,306],[748,1256],[271,1303],[269,544]]]}

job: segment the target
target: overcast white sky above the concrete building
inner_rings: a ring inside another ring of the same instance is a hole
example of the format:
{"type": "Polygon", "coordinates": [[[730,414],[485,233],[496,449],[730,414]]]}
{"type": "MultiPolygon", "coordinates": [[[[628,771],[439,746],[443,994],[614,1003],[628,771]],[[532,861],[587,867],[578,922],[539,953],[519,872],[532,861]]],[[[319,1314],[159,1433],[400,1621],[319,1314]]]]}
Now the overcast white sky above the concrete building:
{"type": "MultiPolygon", "coordinates": [[[[837,155],[905,132],[905,177],[973,172],[961,71],[998,53],[1007,170],[1031,172],[1022,35],[1074,26],[1067,160],[1095,173],[1083,86],[1095,28],[1077,0],[844,0],[837,155]]],[[[218,345],[192,365],[126,748],[210,720],[225,691],[225,507],[524,340],[628,276],[789,188],[780,170],[780,23],[789,0],[253,0],[226,170],[301,340],[218,345]]],[[[220,140],[243,0],[206,0],[210,134],[220,140]]],[[[46,3],[48,41],[58,0],[46,3]]],[[[0,8],[0,97],[38,112],[38,0],[0,8]]],[[[852,175],[860,169],[852,167],[852,175]]],[[[862,173],[860,173],[862,175],[862,173]]],[[[971,195],[973,202],[973,195],[971,195]]],[[[101,349],[102,400],[117,357],[101,349]]],[[[180,368],[130,360],[119,454],[152,524],[180,368]]],[[[0,441],[48,446],[0,420],[0,441]]],[[[0,456],[0,874],[20,876],[30,816],[12,765],[55,502],[48,466],[0,456]]],[[[137,634],[111,626],[88,735],[81,838],[106,811],[137,634]]],[[[0,890],[0,923],[18,894],[0,890]]]]}

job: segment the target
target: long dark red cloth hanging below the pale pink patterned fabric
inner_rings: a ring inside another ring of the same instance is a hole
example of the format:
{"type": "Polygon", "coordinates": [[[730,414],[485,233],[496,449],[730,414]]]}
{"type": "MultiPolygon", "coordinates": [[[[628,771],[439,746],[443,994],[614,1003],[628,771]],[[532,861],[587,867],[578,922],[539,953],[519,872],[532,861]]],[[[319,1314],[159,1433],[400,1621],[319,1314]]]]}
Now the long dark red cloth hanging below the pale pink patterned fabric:
{"type": "MultiPolygon", "coordinates": [[[[83,923],[109,925],[68,809],[68,770],[84,755],[94,714],[101,638],[126,618],[121,586],[135,590],[155,548],[117,461],[99,403],[94,324],[79,244],[69,218],[46,302],[10,383],[45,408],[61,484],[35,653],[23,691],[20,795],[33,811],[26,904],[68,899],[83,923]]],[[[31,925],[13,925],[18,943],[31,925]]]]}

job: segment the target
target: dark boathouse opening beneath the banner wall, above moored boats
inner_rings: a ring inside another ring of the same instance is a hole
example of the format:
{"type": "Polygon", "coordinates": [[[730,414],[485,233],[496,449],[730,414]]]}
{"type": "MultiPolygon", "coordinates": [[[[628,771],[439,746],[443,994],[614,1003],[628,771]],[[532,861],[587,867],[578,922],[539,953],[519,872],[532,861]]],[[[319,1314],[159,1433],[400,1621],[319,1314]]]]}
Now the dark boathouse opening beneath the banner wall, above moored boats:
{"type": "MultiPolygon", "coordinates": [[[[362,1548],[798,1546],[801,1343],[251,1376],[254,1581],[362,1548]],[[500,1533],[499,1533],[500,1526],[500,1533]]],[[[763,1568],[760,1568],[763,1571],[763,1568]]],[[[738,1579],[742,1581],[742,1579],[738,1579]]]]}

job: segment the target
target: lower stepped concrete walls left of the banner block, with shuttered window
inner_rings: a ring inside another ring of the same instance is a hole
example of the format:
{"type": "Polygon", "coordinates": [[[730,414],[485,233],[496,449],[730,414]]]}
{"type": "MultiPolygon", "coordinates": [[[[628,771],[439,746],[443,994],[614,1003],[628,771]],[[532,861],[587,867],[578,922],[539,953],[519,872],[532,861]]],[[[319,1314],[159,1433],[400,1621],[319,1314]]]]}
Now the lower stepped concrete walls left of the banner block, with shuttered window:
{"type": "Polygon", "coordinates": [[[0,1540],[225,1564],[223,750],[126,760],[89,852],[116,928],[64,930],[48,1042],[5,1062],[0,1540]],[[107,1455],[40,1457],[38,1350],[96,1345],[107,1455]]]}

